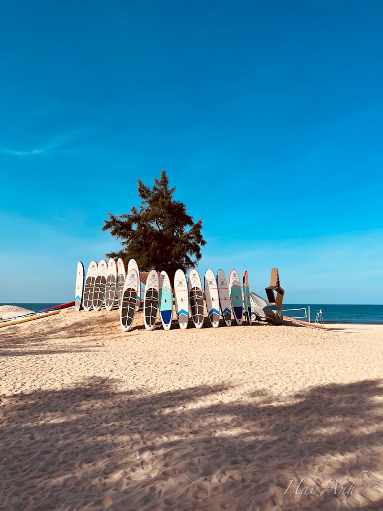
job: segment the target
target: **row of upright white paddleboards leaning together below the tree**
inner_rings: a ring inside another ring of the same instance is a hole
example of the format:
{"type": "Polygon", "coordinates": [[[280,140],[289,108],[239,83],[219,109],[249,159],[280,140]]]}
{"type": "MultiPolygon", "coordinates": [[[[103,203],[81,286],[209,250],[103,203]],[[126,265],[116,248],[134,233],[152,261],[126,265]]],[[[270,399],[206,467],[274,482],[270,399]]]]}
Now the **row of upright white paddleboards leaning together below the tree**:
{"type": "MultiPolygon", "coordinates": [[[[248,324],[251,324],[251,306],[248,272],[242,279],[236,270],[231,270],[229,283],[223,270],[217,274],[208,269],[202,286],[201,276],[196,269],[185,273],[178,269],[174,275],[174,287],[165,271],[158,273],[152,270],[147,277],[143,291],[143,321],[147,330],[153,330],[157,315],[165,330],[172,327],[173,293],[176,315],[181,329],[187,328],[189,317],[194,326],[202,328],[204,322],[204,303],[209,320],[213,327],[220,324],[220,313],[226,326],[231,325],[233,312],[236,324],[243,323],[244,311],[248,324]]],[[[86,275],[81,261],[77,263],[75,307],[85,311],[99,311],[105,304],[105,309],[113,309],[115,302],[119,308],[120,324],[123,331],[131,329],[135,313],[140,307],[141,284],[139,268],[134,259],[125,267],[123,259],[117,262],[104,259],[97,264],[91,261],[86,275]]]]}

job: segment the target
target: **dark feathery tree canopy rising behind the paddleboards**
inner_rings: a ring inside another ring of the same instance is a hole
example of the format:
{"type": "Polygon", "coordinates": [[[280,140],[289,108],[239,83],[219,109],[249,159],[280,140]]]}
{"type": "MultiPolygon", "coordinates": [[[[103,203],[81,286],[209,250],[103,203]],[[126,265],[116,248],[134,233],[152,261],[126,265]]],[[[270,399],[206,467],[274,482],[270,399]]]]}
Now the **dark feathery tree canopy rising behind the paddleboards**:
{"type": "Polygon", "coordinates": [[[171,279],[177,268],[192,268],[201,259],[203,239],[202,218],[196,223],[186,213],[183,202],[173,198],[176,187],[169,188],[169,178],[162,169],[160,179],[154,178],[153,188],[138,182],[141,204],[137,210],[131,206],[130,213],[108,213],[103,230],[121,240],[123,248],[110,252],[107,257],[133,258],[141,271],[165,270],[171,279]]]}

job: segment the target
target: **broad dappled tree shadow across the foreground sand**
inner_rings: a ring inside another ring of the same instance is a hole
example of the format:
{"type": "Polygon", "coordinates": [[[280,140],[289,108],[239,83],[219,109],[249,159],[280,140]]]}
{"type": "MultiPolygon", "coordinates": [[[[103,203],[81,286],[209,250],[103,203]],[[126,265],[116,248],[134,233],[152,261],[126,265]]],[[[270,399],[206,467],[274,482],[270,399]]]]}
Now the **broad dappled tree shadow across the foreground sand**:
{"type": "Polygon", "coordinates": [[[119,385],[97,378],[3,398],[5,508],[383,506],[380,380],[283,401],[259,388],[231,401],[230,385],[154,394],[119,385]]]}

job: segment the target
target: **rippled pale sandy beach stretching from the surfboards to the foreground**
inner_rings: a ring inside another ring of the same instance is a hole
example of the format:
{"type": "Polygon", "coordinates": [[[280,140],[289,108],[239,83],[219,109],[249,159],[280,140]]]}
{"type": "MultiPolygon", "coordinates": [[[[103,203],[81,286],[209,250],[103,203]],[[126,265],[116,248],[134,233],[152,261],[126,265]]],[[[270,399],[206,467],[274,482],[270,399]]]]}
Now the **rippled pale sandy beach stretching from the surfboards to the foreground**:
{"type": "Polygon", "coordinates": [[[135,322],[0,329],[0,509],[383,508],[382,326],[135,322]]]}

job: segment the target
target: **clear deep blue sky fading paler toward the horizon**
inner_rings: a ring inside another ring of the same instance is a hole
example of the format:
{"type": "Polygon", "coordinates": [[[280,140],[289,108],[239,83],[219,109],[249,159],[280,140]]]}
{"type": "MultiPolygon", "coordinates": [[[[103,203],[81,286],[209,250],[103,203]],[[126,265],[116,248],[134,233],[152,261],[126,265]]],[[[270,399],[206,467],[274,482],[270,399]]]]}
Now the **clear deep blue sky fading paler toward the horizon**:
{"type": "Polygon", "coordinates": [[[0,302],[73,299],[107,212],[164,168],[199,269],[286,303],[381,304],[383,4],[8,3],[0,302]],[[241,204],[238,207],[238,204],[241,204]]]}

